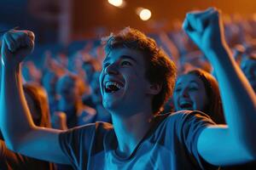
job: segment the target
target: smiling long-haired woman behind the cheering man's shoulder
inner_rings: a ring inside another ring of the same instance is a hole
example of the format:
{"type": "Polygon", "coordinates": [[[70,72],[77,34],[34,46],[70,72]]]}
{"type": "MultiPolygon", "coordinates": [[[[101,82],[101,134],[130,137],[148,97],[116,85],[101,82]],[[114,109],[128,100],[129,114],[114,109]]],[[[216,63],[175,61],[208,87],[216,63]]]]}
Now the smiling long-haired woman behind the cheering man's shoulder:
{"type": "Polygon", "coordinates": [[[225,123],[218,82],[206,71],[195,69],[178,77],[173,101],[175,111],[202,111],[214,122],[225,123]]]}

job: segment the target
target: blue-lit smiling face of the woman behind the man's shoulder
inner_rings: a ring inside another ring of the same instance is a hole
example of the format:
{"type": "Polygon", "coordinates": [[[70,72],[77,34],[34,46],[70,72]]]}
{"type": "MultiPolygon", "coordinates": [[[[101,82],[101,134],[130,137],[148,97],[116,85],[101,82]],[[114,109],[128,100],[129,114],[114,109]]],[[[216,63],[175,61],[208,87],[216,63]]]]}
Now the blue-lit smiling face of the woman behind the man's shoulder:
{"type": "Polygon", "coordinates": [[[208,99],[204,83],[195,75],[183,75],[177,79],[173,93],[175,111],[204,111],[208,99]]]}

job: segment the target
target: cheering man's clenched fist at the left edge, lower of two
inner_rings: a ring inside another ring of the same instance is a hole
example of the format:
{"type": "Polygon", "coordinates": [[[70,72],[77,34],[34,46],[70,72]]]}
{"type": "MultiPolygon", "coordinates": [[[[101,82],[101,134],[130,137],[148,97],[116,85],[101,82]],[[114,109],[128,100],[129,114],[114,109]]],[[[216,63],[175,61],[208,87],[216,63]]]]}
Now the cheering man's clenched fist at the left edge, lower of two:
{"type": "Polygon", "coordinates": [[[15,69],[20,62],[32,53],[35,36],[32,31],[8,31],[3,35],[3,68],[15,69]]]}

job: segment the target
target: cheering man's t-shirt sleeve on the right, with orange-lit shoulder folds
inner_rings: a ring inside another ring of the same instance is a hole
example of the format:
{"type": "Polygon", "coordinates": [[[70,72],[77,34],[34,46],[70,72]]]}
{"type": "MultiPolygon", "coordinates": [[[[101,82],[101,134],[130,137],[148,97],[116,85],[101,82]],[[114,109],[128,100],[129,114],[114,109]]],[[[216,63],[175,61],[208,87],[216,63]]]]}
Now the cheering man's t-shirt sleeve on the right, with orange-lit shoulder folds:
{"type": "Polygon", "coordinates": [[[214,125],[212,119],[201,111],[186,111],[179,116],[177,129],[180,134],[179,139],[186,146],[191,161],[201,167],[201,169],[217,169],[200,156],[197,150],[198,138],[203,129],[214,125]]]}

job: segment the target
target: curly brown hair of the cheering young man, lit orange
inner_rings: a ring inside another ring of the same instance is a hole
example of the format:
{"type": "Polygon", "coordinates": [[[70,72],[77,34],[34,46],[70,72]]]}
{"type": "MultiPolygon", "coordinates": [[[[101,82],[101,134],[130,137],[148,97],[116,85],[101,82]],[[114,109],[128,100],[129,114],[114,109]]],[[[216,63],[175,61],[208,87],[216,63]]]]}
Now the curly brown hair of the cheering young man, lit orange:
{"type": "Polygon", "coordinates": [[[108,54],[114,48],[131,48],[143,53],[146,64],[145,77],[152,84],[160,84],[161,90],[152,100],[154,115],[163,110],[163,105],[172,96],[176,81],[176,65],[160,49],[153,38],[147,37],[143,32],[125,27],[117,34],[102,38],[105,52],[108,54]]]}

